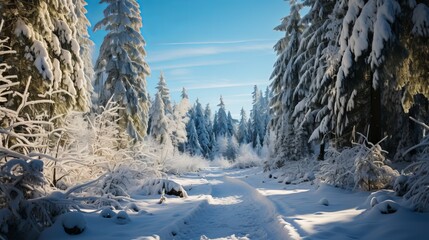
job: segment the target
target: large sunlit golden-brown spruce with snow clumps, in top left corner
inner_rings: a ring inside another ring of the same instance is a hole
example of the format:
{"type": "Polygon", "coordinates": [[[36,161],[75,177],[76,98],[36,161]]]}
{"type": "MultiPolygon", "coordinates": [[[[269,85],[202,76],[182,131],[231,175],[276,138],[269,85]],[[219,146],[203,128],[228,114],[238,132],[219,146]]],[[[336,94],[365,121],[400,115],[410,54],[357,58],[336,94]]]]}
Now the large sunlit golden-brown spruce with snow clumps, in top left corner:
{"type": "MultiPolygon", "coordinates": [[[[52,100],[29,106],[23,111],[31,117],[45,115],[45,119],[66,114],[70,110],[89,109],[84,61],[81,58],[78,29],[82,18],[76,15],[72,0],[63,1],[0,1],[1,18],[7,28],[3,35],[10,38],[16,51],[5,62],[8,70],[19,79],[32,78],[28,100],[52,100]]],[[[11,88],[21,91],[25,81],[11,88]]],[[[16,109],[19,99],[8,99],[10,109],[16,109]]],[[[57,119],[59,123],[61,118],[57,119]]]]}

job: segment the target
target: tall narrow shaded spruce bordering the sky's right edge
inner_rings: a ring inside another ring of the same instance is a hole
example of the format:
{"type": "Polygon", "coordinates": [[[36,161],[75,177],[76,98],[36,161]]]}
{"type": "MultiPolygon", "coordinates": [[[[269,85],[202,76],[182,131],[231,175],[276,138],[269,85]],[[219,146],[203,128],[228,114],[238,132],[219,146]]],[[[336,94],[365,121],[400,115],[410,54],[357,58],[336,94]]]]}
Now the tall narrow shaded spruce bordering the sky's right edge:
{"type": "MultiPolygon", "coordinates": [[[[299,160],[308,154],[306,132],[301,131],[300,127],[295,128],[291,121],[297,104],[293,92],[299,83],[299,66],[302,64],[301,59],[297,58],[297,52],[305,25],[301,22],[299,13],[302,4],[295,0],[289,3],[290,15],[283,18],[282,23],[275,28],[284,31],[285,37],[274,46],[278,59],[271,75],[271,127],[276,135],[276,156],[272,157],[273,162],[268,163],[272,167],[281,167],[286,160],[299,160]]],[[[265,134],[259,137],[264,136],[265,134]]]]}

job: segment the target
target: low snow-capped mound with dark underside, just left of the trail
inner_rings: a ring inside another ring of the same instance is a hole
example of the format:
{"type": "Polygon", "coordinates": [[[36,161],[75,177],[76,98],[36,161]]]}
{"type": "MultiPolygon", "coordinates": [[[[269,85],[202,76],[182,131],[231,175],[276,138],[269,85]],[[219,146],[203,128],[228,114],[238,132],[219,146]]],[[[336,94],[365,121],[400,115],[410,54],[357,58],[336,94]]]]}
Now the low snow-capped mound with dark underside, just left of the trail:
{"type": "Polygon", "coordinates": [[[188,197],[188,193],[185,191],[182,185],[168,179],[151,179],[147,181],[141,188],[141,194],[162,194],[163,189],[167,195],[179,196],[181,198],[188,197]]]}

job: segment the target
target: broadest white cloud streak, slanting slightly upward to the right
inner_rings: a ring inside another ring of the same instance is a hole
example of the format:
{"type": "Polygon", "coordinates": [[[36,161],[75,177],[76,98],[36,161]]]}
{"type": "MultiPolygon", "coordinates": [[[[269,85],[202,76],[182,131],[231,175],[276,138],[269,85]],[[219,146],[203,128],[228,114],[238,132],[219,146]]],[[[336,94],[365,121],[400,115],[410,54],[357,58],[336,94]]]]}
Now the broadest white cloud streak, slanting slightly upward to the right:
{"type": "Polygon", "coordinates": [[[238,45],[238,46],[210,46],[210,47],[188,47],[179,49],[169,49],[158,52],[152,52],[150,57],[147,58],[148,62],[162,62],[177,60],[183,58],[201,57],[217,55],[221,53],[234,53],[234,52],[252,52],[271,50],[273,47],[272,43],[259,43],[251,45],[238,45]]]}

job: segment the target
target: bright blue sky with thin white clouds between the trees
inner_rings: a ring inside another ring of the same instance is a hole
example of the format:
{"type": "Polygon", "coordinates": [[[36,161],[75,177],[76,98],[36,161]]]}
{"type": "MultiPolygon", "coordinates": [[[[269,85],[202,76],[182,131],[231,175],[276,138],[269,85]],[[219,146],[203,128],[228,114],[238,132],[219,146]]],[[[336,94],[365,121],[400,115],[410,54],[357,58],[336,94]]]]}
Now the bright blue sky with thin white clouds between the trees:
{"type": "MultiPolygon", "coordinates": [[[[105,5],[88,1],[92,25],[105,5]]],[[[182,87],[190,100],[209,103],[214,113],[222,95],[227,110],[249,115],[253,85],[265,90],[276,59],[272,49],[283,33],[273,28],[289,9],[284,0],[139,0],[154,96],[164,72],[173,101],[182,87]]],[[[95,56],[105,32],[91,31],[95,56]]]]}

